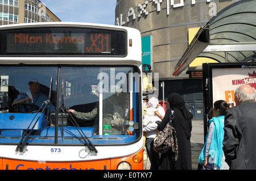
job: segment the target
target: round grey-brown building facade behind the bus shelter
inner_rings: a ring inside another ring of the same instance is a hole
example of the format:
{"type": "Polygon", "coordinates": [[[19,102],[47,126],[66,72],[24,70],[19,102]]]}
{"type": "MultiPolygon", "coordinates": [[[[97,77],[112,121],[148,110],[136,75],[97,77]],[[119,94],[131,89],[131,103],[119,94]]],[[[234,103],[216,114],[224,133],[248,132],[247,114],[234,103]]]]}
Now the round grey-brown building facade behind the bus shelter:
{"type": "MultiPolygon", "coordinates": [[[[167,100],[171,92],[183,95],[187,108],[195,119],[203,119],[203,83],[199,73],[188,69],[200,68],[202,62],[195,60],[178,77],[172,75],[189,43],[200,27],[217,12],[239,0],[119,0],[115,7],[115,25],[137,28],[142,40],[150,37],[152,72],[159,74],[159,99],[167,100]],[[199,62],[199,63],[196,63],[199,62]],[[195,73],[195,74],[194,74],[195,73]],[[164,88],[161,85],[164,83],[164,88]],[[162,91],[164,89],[164,91],[162,91]]],[[[142,49],[143,49],[142,41],[142,49]]],[[[146,55],[142,50],[143,56],[146,55]]],[[[143,62],[142,62],[143,63],[143,62]]]]}

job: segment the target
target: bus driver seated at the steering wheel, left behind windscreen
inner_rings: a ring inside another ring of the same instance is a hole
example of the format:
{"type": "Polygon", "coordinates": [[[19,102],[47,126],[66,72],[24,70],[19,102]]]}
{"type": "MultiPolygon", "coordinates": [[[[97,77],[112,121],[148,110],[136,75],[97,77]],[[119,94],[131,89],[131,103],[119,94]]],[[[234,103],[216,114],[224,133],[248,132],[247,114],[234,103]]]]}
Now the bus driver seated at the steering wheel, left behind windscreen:
{"type": "MultiPolygon", "coordinates": [[[[25,104],[28,103],[29,107],[33,107],[33,105],[36,105],[37,107],[41,107],[45,100],[49,100],[49,96],[44,94],[43,92],[40,92],[40,83],[38,81],[32,80],[28,82],[28,87],[30,89],[32,98],[30,98],[25,92],[20,92],[18,97],[14,100],[12,103],[12,106],[15,108],[15,110],[24,112],[25,104]]],[[[36,109],[36,106],[34,107],[36,109]]],[[[52,103],[49,105],[49,112],[53,112],[55,110],[55,106],[53,106],[52,103]]]]}

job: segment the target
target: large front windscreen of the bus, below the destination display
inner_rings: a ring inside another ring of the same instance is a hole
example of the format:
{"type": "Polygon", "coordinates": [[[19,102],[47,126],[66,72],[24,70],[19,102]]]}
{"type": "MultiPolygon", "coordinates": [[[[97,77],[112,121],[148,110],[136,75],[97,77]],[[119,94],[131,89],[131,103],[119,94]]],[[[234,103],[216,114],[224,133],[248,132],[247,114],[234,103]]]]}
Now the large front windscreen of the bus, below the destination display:
{"type": "Polygon", "coordinates": [[[142,135],[134,66],[0,67],[0,143],[128,144],[142,135]],[[48,102],[47,102],[48,100],[48,102]],[[30,134],[28,134],[30,132],[30,134]]]}

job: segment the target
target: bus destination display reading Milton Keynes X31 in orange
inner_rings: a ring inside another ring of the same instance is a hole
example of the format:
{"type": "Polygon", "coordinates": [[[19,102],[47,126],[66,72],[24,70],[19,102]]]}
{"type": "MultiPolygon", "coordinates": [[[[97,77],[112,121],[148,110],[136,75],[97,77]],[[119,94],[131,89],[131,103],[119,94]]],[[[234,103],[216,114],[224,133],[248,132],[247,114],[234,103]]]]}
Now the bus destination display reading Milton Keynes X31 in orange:
{"type": "Polygon", "coordinates": [[[30,28],[0,31],[0,56],[125,56],[126,32],[88,28],[30,28]]]}

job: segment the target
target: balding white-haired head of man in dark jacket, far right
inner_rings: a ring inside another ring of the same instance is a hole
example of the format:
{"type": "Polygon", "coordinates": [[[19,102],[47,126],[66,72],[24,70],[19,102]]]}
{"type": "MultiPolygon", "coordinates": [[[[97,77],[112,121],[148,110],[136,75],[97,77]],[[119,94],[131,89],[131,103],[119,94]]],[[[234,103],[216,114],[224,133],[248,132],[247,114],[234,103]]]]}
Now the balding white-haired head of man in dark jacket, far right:
{"type": "Polygon", "coordinates": [[[255,99],[256,99],[255,98],[256,91],[253,87],[249,85],[242,85],[238,87],[234,95],[235,95],[236,106],[247,101],[255,102],[255,99]]]}

